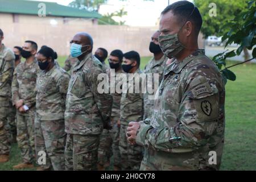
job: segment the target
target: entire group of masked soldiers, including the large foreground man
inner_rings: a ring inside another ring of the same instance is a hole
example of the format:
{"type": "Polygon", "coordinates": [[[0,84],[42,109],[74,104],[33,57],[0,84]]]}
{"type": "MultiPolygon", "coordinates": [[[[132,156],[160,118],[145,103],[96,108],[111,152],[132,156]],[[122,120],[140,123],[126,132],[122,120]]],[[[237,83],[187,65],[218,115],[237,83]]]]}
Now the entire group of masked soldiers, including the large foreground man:
{"type": "MultiPolygon", "coordinates": [[[[42,169],[88,170],[97,169],[97,164],[98,169],[105,169],[111,152],[114,169],[220,169],[225,81],[216,64],[199,49],[202,23],[199,10],[188,1],[172,3],[162,11],[159,31],[150,43],[154,57],[144,70],[158,73],[161,79],[151,101],[147,93],[130,93],[128,88],[121,94],[98,92],[98,76],[109,74],[101,63],[106,53],[101,49],[93,56],[92,37],[84,32],[71,41],[71,56],[77,61],[70,78],[51,48],[44,46],[37,52],[31,41],[22,48],[26,61],[12,74],[15,56],[1,44],[0,162],[8,160],[5,126],[12,92],[24,160],[18,167],[32,165],[34,151],[44,151],[47,162],[37,160],[42,169]]],[[[140,61],[135,51],[114,50],[109,56],[110,68],[117,73],[141,74],[140,61]]],[[[133,79],[127,82],[135,84],[133,79]]]]}

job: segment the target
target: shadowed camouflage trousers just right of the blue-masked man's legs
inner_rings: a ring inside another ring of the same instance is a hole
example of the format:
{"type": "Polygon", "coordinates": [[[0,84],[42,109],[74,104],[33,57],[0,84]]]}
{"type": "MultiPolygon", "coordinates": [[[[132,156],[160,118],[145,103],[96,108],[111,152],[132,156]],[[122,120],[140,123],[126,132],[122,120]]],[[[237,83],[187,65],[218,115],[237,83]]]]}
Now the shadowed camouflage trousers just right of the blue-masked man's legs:
{"type": "Polygon", "coordinates": [[[114,166],[120,167],[120,152],[119,152],[119,133],[120,127],[117,126],[119,118],[112,118],[112,130],[104,129],[100,137],[100,146],[98,148],[98,164],[102,166],[110,162],[113,155],[114,166]]]}

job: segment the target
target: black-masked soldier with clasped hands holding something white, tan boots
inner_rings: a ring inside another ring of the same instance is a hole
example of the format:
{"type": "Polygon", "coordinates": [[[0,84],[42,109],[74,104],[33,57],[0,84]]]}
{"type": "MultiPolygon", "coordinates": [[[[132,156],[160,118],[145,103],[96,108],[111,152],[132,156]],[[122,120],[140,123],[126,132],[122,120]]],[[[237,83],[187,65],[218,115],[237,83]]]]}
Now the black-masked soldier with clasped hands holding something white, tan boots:
{"type": "Polygon", "coordinates": [[[38,45],[27,40],[22,49],[24,63],[18,64],[14,71],[11,92],[15,105],[17,142],[21,151],[23,163],[14,166],[15,169],[32,168],[35,159],[34,120],[36,101],[36,77],[39,71],[35,58],[38,45]]]}

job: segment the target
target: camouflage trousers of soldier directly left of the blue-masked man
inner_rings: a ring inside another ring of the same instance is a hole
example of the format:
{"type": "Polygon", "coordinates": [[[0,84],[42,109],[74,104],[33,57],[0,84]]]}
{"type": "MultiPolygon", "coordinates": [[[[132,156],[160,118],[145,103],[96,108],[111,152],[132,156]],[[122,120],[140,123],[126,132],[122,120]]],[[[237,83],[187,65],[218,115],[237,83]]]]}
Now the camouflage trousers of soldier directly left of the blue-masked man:
{"type": "Polygon", "coordinates": [[[46,163],[39,164],[45,170],[63,171],[65,169],[64,149],[67,134],[64,119],[40,121],[35,119],[35,150],[37,161],[40,162],[40,151],[46,154],[46,163]]]}

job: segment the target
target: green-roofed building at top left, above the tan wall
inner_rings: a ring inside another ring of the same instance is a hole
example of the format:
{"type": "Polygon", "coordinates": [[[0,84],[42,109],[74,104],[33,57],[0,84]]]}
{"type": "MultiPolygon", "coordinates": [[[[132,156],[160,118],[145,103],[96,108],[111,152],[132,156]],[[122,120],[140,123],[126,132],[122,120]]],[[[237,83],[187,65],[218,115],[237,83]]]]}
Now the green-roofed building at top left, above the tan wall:
{"type": "Polygon", "coordinates": [[[0,22],[2,23],[44,23],[60,24],[97,24],[101,15],[96,12],[74,9],[55,2],[1,0],[0,22]]]}

